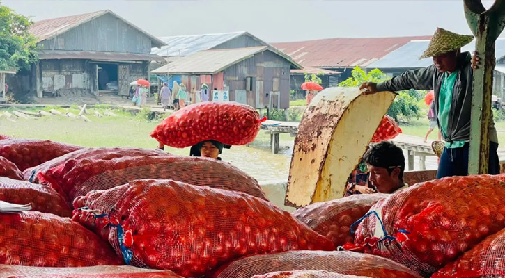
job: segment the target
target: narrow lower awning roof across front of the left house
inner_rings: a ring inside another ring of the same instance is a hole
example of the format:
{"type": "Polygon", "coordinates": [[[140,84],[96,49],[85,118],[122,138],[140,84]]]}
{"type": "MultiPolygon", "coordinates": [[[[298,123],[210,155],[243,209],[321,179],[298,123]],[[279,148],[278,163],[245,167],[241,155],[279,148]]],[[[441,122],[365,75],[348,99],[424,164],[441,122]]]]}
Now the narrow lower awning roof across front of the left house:
{"type": "Polygon", "coordinates": [[[165,62],[165,59],[153,54],[131,54],[118,52],[91,52],[91,51],[67,51],[67,50],[38,50],[40,60],[51,59],[87,59],[109,61],[156,61],[165,62]]]}

